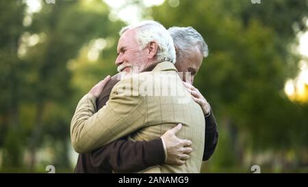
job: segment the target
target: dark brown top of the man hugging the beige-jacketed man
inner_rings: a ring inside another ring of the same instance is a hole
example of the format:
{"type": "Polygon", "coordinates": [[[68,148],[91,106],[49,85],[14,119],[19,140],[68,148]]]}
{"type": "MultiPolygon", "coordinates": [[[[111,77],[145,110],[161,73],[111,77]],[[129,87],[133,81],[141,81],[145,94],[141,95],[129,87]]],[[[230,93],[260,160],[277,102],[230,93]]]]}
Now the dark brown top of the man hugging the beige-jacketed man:
{"type": "MultiPolygon", "coordinates": [[[[101,109],[110,97],[110,92],[118,82],[115,75],[110,79],[97,99],[97,110],[101,109]]],[[[108,120],[108,119],[105,119],[108,120]]],[[[213,112],[205,118],[205,151],[203,160],[208,160],[214,153],[218,142],[216,119],[213,112]]],[[[162,139],[133,142],[123,137],[91,153],[78,156],[75,173],[112,173],[137,172],[150,166],[164,163],[162,139]]]]}

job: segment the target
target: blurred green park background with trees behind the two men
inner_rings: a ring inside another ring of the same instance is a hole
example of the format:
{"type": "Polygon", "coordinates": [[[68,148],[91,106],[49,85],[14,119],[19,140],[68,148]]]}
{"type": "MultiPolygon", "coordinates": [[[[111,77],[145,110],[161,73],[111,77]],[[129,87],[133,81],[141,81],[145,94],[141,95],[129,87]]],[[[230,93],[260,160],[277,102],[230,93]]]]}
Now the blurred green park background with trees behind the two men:
{"type": "Polygon", "coordinates": [[[220,138],[202,173],[308,172],[307,0],[0,0],[0,173],[72,173],[70,120],[114,75],[121,27],[192,26],[220,138]]]}

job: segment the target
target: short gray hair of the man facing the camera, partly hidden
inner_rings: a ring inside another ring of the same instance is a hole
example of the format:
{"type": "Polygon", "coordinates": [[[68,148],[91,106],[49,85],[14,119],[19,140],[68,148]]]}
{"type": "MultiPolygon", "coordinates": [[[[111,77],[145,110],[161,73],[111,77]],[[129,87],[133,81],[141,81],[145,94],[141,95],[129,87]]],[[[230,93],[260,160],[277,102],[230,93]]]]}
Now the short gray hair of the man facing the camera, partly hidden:
{"type": "Polygon", "coordinates": [[[183,54],[190,54],[194,47],[198,47],[203,54],[203,57],[209,55],[207,44],[203,40],[201,34],[192,27],[170,27],[168,29],[175,46],[183,54]]]}

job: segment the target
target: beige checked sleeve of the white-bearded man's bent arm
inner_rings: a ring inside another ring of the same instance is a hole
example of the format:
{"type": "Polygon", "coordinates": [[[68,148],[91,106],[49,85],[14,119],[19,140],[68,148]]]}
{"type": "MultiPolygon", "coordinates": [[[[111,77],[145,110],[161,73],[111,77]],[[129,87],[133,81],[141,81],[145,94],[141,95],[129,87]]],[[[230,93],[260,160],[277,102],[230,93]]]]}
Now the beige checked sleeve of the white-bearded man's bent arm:
{"type": "Polygon", "coordinates": [[[138,88],[133,88],[131,82],[118,82],[107,105],[97,113],[94,95],[89,93],[79,101],[70,124],[70,138],[77,153],[93,151],[143,127],[144,97],[138,95],[138,88]]]}

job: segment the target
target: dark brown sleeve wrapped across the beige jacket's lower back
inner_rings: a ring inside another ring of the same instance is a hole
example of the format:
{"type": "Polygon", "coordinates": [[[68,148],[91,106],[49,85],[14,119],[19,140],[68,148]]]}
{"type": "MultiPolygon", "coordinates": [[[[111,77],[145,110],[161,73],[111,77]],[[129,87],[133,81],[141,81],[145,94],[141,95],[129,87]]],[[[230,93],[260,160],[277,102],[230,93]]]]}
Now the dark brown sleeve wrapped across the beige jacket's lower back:
{"type": "Polygon", "coordinates": [[[120,139],[91,152],[92,164],[117,173],[133,173],[164,163],[162,139],[133,142],[120,139]]]}

